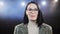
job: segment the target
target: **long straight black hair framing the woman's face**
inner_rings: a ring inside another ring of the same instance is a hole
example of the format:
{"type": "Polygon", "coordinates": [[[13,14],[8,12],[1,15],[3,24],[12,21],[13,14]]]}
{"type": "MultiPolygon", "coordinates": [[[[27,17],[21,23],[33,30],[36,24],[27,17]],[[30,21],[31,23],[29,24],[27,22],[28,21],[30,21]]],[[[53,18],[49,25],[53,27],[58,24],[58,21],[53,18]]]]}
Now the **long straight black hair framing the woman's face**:
{"type": "Polygon", "coordinates": [[[24,18],[23,18],[23,23],[28,24],[28,22],[29,22],[28,17],[26,15],[26,10],[27,10],[28,5],[31,4],[31,3],[36,4],[36,6],[38,8],[38,16],[37,16],[36,23],[38,24],[38,26],[40,26],[44,22],[43,17],[42,17],[42,12],[39,9],[38,4],[36,2],[33,2],[33,1],[29,2],[26,6],[25,13],[24,13],[24,18]]]}

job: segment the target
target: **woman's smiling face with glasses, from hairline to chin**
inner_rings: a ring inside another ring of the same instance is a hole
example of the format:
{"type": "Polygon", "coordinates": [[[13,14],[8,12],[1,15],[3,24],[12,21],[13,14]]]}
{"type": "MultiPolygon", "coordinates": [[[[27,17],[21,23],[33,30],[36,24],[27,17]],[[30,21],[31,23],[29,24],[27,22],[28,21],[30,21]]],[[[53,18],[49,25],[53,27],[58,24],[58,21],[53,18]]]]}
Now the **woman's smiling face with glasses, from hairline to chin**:
{"type": "Polygon", "coordinates": [[[38,8],[36,4],[29,4],[26,10],[26,15],[29,20],[36,20],[38,16],[38,8]]]}

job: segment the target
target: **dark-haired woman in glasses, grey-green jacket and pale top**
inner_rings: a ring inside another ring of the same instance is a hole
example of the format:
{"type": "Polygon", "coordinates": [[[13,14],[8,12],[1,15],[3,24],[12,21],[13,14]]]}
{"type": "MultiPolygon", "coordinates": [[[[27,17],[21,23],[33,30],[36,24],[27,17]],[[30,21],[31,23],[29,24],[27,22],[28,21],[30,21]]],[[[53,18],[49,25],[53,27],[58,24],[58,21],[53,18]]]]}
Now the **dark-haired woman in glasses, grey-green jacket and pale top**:
{"type": "Polygon", "coordinates": [[[27,4],[23,23],[15,27],[14,34],[52,34],[52,27],[44,23],[36,2],[27,4]]]}

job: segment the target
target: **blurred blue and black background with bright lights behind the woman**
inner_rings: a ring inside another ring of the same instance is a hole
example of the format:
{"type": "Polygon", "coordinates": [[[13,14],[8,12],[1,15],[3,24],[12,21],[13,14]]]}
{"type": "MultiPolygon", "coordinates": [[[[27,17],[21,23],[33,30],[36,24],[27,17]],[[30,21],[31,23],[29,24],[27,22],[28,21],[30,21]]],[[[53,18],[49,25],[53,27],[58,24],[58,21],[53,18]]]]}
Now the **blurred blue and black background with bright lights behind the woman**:
{"type": "Polygon", "coordinates": [[[13,34],[14,27],[22,22],[25,7],[30,1],[39,4],[53,33],[60,33],[60,0],[0,0],[0,34],[13,34]]]}

